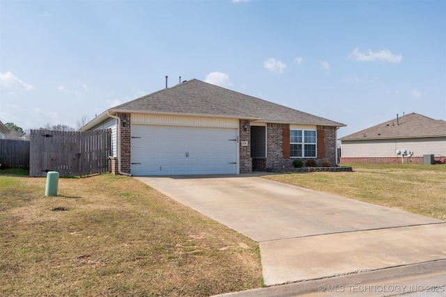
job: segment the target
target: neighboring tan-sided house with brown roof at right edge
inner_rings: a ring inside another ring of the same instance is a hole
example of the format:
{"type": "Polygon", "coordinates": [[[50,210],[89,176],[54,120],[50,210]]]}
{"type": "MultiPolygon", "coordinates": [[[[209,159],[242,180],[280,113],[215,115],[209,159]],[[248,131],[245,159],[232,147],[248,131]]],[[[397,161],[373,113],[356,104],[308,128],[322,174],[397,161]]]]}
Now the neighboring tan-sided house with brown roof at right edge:
{"type": "Polygon", "coordinates": [[[446,156],[446,121],[409,113],[339,140],[341,163],[423,163],[424,154],[446,156]],[[402,159],[397,150],[413,156],[402,159]]]}

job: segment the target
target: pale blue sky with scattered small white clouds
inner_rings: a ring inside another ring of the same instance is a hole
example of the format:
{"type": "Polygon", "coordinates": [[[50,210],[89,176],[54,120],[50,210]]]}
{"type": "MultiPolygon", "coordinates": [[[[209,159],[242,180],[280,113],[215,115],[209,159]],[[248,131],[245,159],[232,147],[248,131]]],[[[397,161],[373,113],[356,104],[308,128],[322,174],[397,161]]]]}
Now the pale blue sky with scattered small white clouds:
{"type": "Polygon", "coordinates": [[[446,1],[0,0],[0,120],[76,127],[187,79],[342,122],[446,120],[446,1]]]}

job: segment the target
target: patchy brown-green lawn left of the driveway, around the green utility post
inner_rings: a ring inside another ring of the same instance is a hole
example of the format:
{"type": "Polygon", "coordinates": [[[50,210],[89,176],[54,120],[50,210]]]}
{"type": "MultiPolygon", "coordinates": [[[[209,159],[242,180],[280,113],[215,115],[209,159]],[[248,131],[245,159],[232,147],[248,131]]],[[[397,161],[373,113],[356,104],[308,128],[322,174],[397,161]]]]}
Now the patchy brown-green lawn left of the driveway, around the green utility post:
{"type": "Polygon", "coordinates": [[[0,176],[0,296],[210,296],[262,286],[259,245],[136,179],[0,176]]]}

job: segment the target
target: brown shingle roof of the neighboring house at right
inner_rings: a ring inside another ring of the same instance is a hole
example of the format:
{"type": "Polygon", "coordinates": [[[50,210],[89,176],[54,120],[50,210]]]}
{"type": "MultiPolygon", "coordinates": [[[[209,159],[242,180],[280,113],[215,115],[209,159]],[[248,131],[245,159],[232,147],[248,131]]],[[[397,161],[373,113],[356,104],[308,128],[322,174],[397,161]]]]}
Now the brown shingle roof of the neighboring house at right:
{"type": "Polygon", "coordinates": [[[446,136],[446,122],[418,113],[409,113],[374,127],[339,138],[340,141],[370,139],[425,138],[446,136]]]}

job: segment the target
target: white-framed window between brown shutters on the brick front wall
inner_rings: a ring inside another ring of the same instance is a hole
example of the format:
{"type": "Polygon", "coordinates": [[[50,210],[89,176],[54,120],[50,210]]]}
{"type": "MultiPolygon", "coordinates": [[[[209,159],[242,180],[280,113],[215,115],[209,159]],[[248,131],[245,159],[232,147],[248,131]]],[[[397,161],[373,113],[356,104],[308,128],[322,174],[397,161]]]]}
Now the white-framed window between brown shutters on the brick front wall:
{"type": "Polygon", "coordinates": [[[290,130],[290,156],[316,157],[316,130],[290,130]]]}

